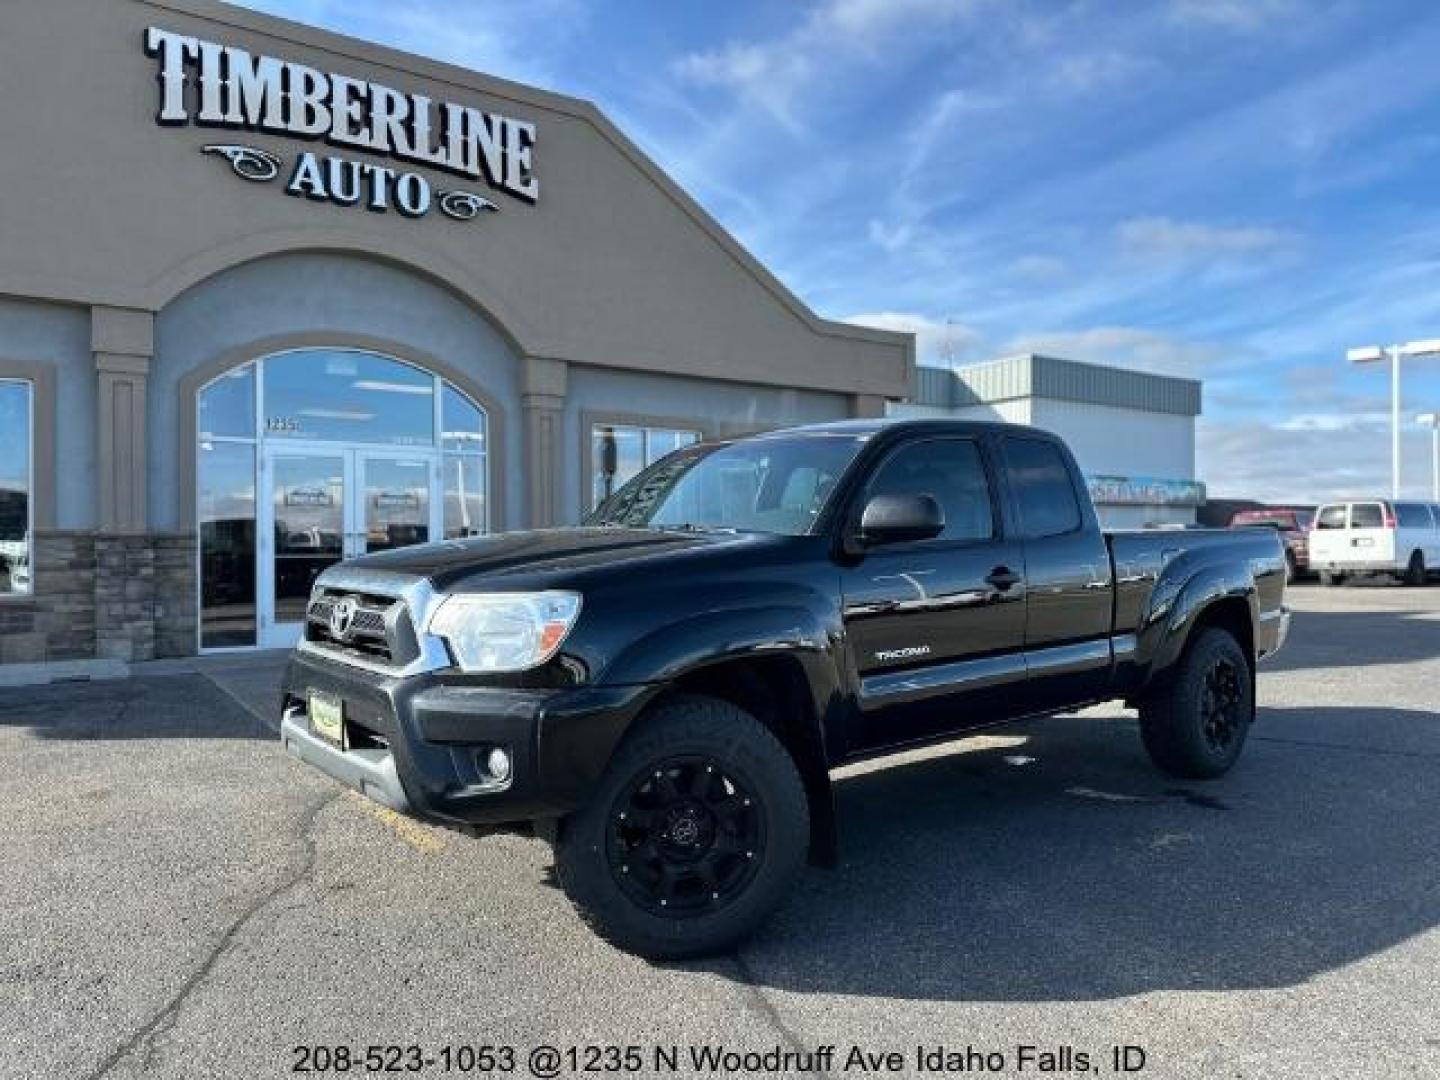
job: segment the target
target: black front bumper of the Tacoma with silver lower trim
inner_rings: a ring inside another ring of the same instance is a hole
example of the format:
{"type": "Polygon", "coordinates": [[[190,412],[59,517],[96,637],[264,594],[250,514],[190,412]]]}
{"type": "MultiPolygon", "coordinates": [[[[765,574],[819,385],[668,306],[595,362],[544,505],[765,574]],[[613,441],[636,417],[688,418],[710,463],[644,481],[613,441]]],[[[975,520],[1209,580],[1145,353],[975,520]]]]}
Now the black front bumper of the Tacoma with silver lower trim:
{"type": "Polygon", "coordinates": [[[454,670],[400,678],[297,652],[285,672],[281,743],[396,811],[469,825],[533,821],[585,802],[652,693],[492,687],[454,670]],[[312,730],[311,694],[341,703],[343,746],[312,730]],[[497,747],[511,762],[503,782],[484,766],[497,747]]]}

